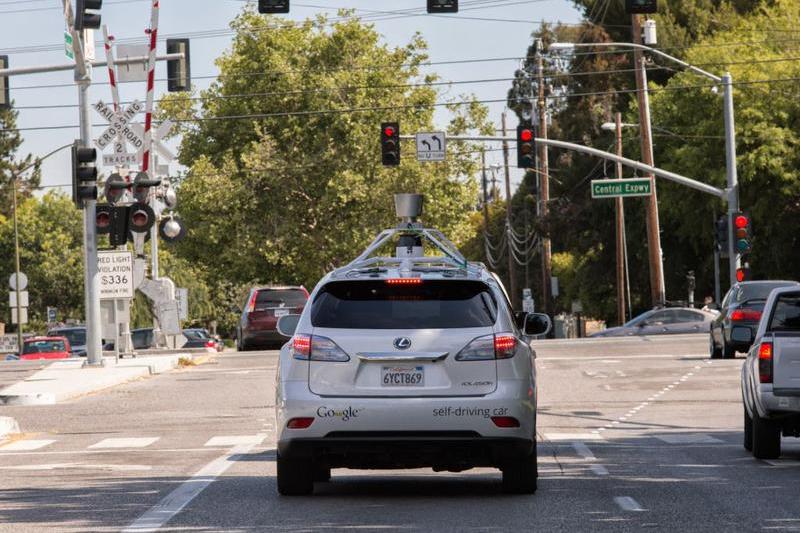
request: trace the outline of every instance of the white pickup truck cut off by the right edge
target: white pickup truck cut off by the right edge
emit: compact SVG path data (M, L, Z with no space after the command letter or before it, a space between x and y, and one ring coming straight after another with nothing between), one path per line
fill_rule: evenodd
M742 367L744 447L781 455L781 436L800 437L800 288L773 290Z

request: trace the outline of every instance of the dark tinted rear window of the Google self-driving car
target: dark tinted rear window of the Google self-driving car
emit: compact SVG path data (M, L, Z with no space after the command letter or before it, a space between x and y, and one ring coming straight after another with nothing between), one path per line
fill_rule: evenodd
M492 326L497 303L479 281L335 281L317 294L311 324L320 328L424 329Z

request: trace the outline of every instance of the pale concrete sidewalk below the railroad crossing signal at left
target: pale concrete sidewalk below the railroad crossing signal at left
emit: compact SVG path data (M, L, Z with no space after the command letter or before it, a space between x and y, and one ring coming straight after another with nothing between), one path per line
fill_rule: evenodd
M0 405L52 405L122 383L168 372L181 358L202 364L205 353L176 353L134 359L104 358L104 366L83 368L84 359L55 361L11 386L0 389Z

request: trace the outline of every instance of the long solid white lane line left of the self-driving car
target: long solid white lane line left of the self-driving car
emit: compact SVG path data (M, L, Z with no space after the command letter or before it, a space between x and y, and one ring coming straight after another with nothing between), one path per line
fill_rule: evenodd
M266 435L260 435L264 440ZM228 450L224 455L217 457L206 466L197 471L195 475L183 482L178 488L167 494L164 499L155 504L146 513L137 518L122 533L157 531L161 526L181 512L189 502L195 499L214 480L225 473L233 465L239 455L249 453L257 444L239 444Z

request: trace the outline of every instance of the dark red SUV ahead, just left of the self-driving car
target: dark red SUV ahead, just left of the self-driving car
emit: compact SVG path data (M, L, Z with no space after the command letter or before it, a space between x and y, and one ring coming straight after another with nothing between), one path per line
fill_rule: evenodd
M302 286L250 289L236 326L236 348L246 351L283 345L286 338L276 329L278 319L302 313L307 301L308 291Z

